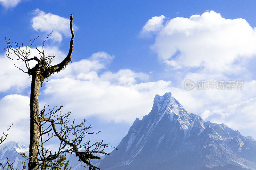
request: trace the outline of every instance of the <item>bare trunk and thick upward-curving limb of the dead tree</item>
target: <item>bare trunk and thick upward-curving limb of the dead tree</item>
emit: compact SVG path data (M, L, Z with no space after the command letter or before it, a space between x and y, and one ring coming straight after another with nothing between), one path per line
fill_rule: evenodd
M31 81L31 92L30 92L30 143L29 143L29 159L28 159L28 170L38 170L38 145L39 145L39 135L40 135L40 125L38 121L38 113L39 113L39 104L38 104L38 96L39 96L39 87L44 82L45 78L48 78L54 72L59 72L64 69L66 65L71 61L71 55L73 52L73 43L75 34L72 28L73 24L73 15L70 16L70 31L71 31L71 40L69 46L69 52L67 57L59 64L55 66L51 66L46 70L42 66L41 60L39 61L37 58L32 58L28 60L38 60L36 66L28 72L32 76ZM41 59L45 59L42 58ZM26 61L28 61L26 60ZM45 60L44 60L45 62ZM43 62L43 63L44 63ZM45 65L46 64L46 65ZM47 62L43 64L47 66Z

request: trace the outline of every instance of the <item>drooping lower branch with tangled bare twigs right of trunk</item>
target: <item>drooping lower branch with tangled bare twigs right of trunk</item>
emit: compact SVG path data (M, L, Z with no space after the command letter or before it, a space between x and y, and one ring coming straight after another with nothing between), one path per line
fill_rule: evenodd
M65 153L75 153L78 157L78 161L83 161L89 169L100 169L97 166L92 165L92 159L100 159L100 157L95 156L95 153L101 153L109 155L109 153L104 152L106 147L109 147L107 144L103 144L103 141L96 142L91 144L90 141L83 143L84 137L90 134L98 134L99 132L89 132L88 130L92 128L91 125L86 126L84 119L83 122L75 125L75 120L70 122L68 116L70 112L62 115L61 107L54 107L50 109L48 105L48 112L45 114L44 109L40 112L38 117L39 124L39 144L37 146L38 154L38 167L44 169L44 165L51 162L54 159L57 159L60 155ZM47 144L52 138L59 138L59 147L56 151L52 151L44 145ZM114 147L111 147L114 148ZM27 160L29 158L22 153L23 157Z

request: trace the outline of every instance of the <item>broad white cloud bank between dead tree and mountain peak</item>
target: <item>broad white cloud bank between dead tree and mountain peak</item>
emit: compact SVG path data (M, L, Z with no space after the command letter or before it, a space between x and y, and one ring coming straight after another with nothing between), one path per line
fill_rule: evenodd
M63 110L72 111L75 117L94 115L107 121L132 122L150 111L155 94L171 90L170 81L148 82L147 74L129 69L100 73L113 58L98 52L68 64L46 84L41 102L63 105Z

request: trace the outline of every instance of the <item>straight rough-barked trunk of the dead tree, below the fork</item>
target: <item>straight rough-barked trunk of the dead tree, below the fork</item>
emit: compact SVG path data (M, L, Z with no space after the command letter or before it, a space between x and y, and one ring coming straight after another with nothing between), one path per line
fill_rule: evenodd
M39 124L38 124L38 95L41 82L37 71L32 74L31 93L30 93L30 143L28 170L37 170L38 144L39 144Z

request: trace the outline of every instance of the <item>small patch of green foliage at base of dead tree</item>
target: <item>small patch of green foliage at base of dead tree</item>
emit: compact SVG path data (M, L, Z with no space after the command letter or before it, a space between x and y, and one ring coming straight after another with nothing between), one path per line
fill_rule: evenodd
M44 162L40 165L40 170L71 170L68 167L69 161L66 161L66 154L61 155L54 162Z

